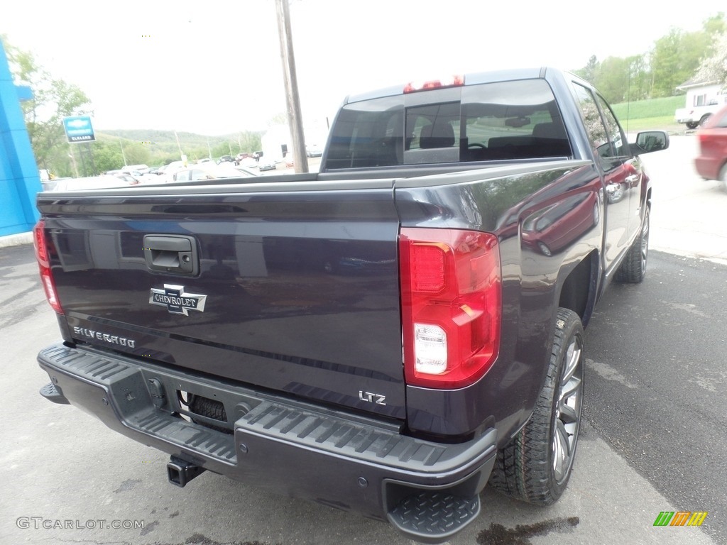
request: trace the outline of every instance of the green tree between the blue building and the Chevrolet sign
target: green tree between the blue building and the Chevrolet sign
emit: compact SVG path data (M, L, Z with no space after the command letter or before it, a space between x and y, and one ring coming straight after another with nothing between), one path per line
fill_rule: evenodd
M78 86L54 78L31 52L12 46L5 36L1 38L15 80L33 89L33 100L23 102L21 107L36 163L51 171L67 169L69 152L63 118L91 113L89 97Z

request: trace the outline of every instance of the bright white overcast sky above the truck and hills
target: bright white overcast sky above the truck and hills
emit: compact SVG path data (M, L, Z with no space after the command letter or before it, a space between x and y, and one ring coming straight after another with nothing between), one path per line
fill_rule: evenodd
M724 0L292 0L306 125L347 94L440 74L639 55L696 31ZM2 9L0 33L92 100L96 129L229 134L286 109L273 0L41 0Z

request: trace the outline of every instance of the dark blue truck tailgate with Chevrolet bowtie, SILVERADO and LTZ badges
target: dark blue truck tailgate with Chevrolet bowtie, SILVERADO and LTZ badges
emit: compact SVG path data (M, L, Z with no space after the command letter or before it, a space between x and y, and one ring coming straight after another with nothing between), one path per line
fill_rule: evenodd
M392 186L41 193L73 341L403 419Z

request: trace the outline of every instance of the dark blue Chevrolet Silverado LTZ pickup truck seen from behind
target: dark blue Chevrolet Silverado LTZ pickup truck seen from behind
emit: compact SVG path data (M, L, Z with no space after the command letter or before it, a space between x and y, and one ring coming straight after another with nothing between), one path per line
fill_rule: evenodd
M587 325L651 184L553 68L348 97L312 174L40 193L41 395L204 471L445 541L571 474Z

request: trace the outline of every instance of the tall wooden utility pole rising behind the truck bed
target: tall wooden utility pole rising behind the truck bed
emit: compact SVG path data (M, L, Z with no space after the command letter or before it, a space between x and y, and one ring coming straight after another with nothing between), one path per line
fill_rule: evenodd
M293 144L293 163L296 172L308 172L308 156L305 155L302 114L298 98L298 81L295 75L293 55L293 36L290 30L290 11L288 0L276 0L278 14L278 34L280 36L280 56L283 61L285 100L288 105L288 124Z

